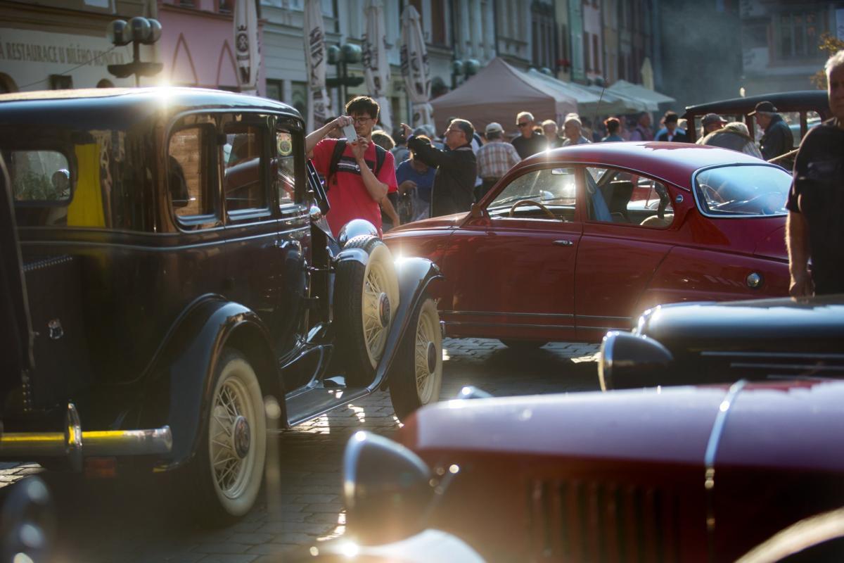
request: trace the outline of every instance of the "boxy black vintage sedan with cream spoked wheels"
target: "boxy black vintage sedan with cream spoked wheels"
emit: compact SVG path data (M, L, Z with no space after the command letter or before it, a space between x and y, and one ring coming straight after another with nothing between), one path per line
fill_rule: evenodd
M256 499L268 424L387 387L399 418L436 401L436 266L394 261L365 221L335 241L304 146L297 111L252 96L0 96L4 340L23 350L3 357L0 459L164 473L225 521Z

